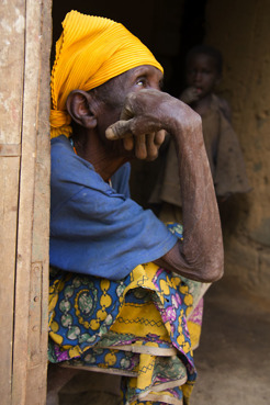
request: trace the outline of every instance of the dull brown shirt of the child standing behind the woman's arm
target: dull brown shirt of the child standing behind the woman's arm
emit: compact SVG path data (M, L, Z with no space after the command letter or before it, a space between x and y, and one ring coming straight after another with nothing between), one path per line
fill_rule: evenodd
M250 190L240 145L225 113L222 100L213 94L210 109L201 116L215 192L221 198ZM181 206L178 159L173 142L170 142L161 166L149 202L167 202Z

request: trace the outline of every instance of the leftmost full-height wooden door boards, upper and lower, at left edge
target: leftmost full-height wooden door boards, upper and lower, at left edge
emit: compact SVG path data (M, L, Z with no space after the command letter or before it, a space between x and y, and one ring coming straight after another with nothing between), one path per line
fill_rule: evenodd
M1 403L11 404L13 304L15 282L15 248L21 115L24 67L24 19L18 14L18 0L0 2L0 262L1 262Z

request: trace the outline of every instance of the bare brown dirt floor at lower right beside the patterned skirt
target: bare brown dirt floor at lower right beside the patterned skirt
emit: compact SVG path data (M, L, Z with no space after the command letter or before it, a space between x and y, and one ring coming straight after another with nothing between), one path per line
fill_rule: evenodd
M270 404L270 302L224 280L205 296L191 405Z

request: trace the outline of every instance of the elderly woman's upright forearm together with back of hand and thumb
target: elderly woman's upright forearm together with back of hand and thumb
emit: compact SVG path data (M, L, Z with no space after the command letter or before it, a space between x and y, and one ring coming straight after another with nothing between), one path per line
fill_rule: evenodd
M116 139L166 130L178 154L183 210L183 241L156 262L187 278L212 282L223 274L223 243L218 209L202 136L201 117L187 104L157 90L127 97L128 121L110 126Z

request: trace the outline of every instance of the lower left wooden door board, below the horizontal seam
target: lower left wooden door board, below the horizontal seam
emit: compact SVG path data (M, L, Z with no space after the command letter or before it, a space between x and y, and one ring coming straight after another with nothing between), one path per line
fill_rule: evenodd
M19 168L20 158L18 157L0 159L1 404L11 404Z

